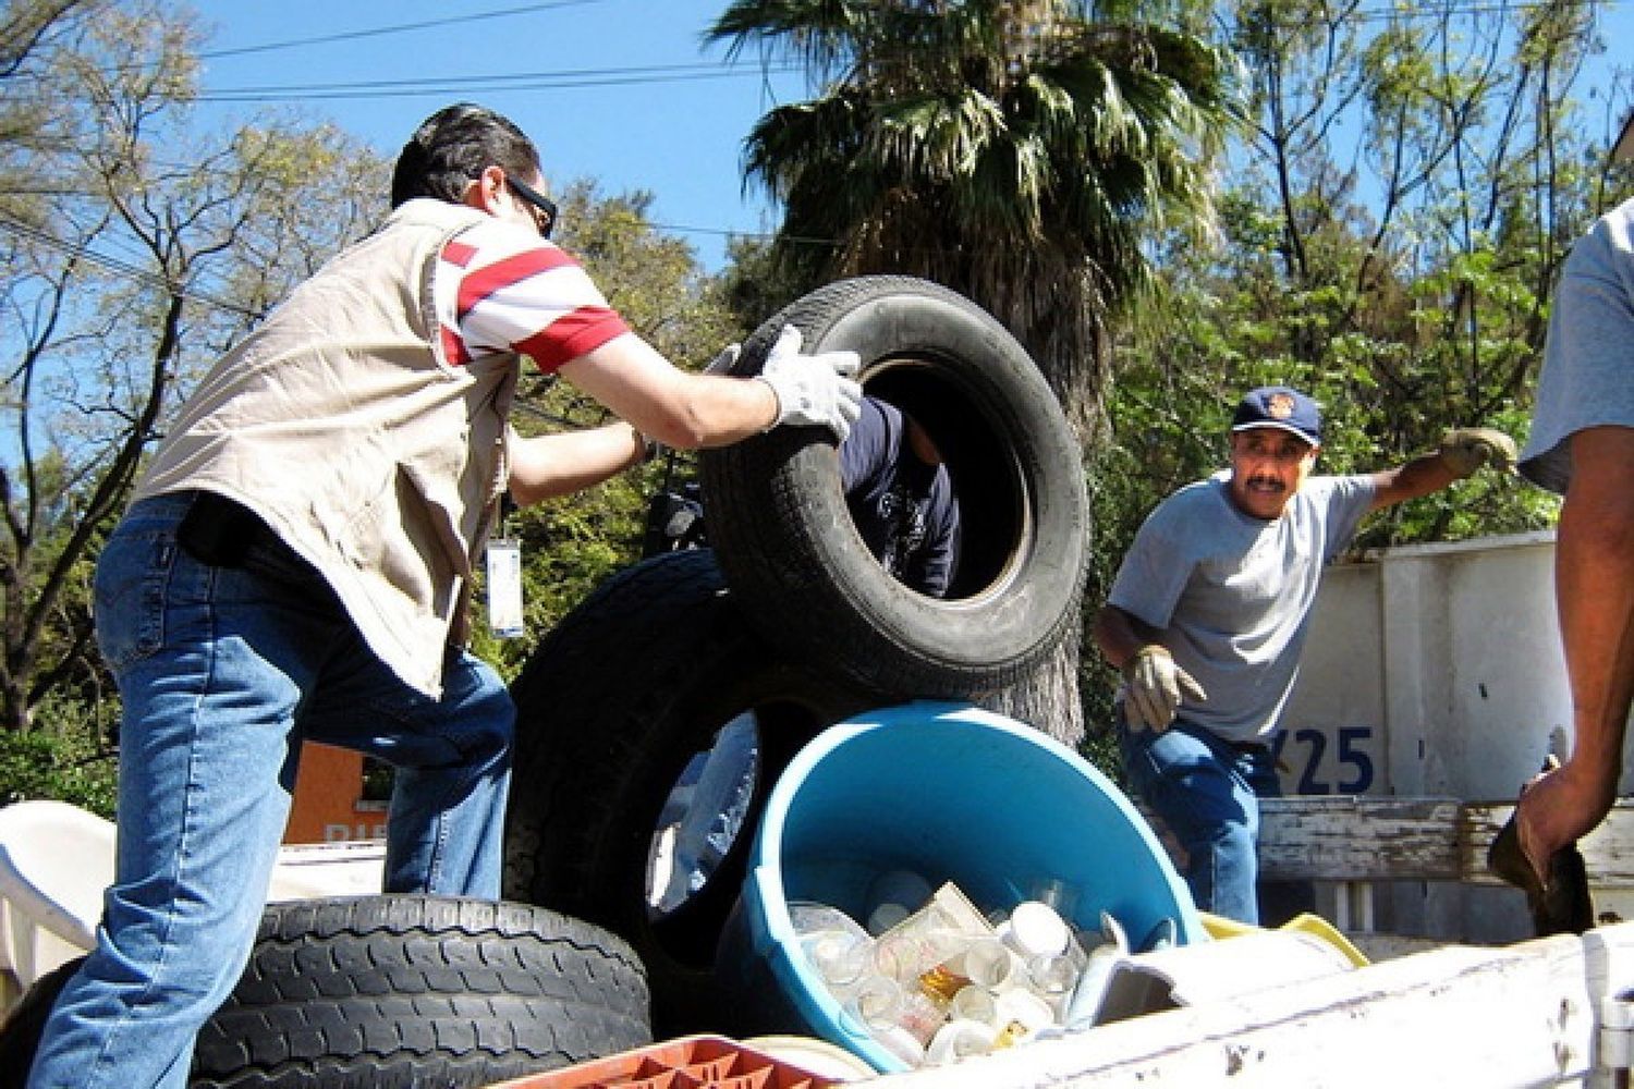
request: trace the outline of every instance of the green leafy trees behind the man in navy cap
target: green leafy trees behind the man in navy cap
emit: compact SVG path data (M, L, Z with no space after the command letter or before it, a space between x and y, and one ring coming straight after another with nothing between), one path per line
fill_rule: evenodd
M1525 438L1559 263L1631 181L1606 168L1627 90L1593 113L1577 98L1595 11L1229 8L1253 129L1221 245L1167 245L1155 304L1123 330L1092 593L1152 504L1226 462L1250 385L1325 403L1328 472L1405 460L1456 424ZM1358 547L1536 529L1552 511L1482 473L1369 519ZM1087 699L1105 705L1113 682Z

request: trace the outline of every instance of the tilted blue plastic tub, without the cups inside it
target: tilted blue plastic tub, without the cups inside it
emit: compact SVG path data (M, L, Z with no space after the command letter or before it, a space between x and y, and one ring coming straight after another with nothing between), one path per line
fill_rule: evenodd
M967 704L917 702L830 727L784 771L755 836L717 971L768 1030L822 1037L876 1069L904 1065L842 1016L810 970L791 901L866 918L869 885L910 869L1008 911L1036 882L1074 895L1072 921L1109 911L1132 940L1173 919L1208 940L1185 882L1129 800L1039 730Z

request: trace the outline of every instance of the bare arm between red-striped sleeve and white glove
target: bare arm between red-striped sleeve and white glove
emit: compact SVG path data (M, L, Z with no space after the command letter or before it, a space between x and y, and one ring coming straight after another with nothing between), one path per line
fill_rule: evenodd
M778 418L765 382L688 374L634 333L562 367L562 377L665 446L694 451L758 434Z

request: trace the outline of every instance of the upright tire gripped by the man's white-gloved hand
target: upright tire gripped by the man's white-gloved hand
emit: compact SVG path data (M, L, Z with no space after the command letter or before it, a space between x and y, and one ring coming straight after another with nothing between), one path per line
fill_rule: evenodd
M944 599L892 580L856 534L824 428L775 428L701 459L709 542L739 607L796 661L892 696L971 699L1025 678L1078 620L1088 498L1072 428L1021 344L982 309L904 276L846 279L743 343L757 374L778 331L861 356L866 392L941 451L962 516Z

